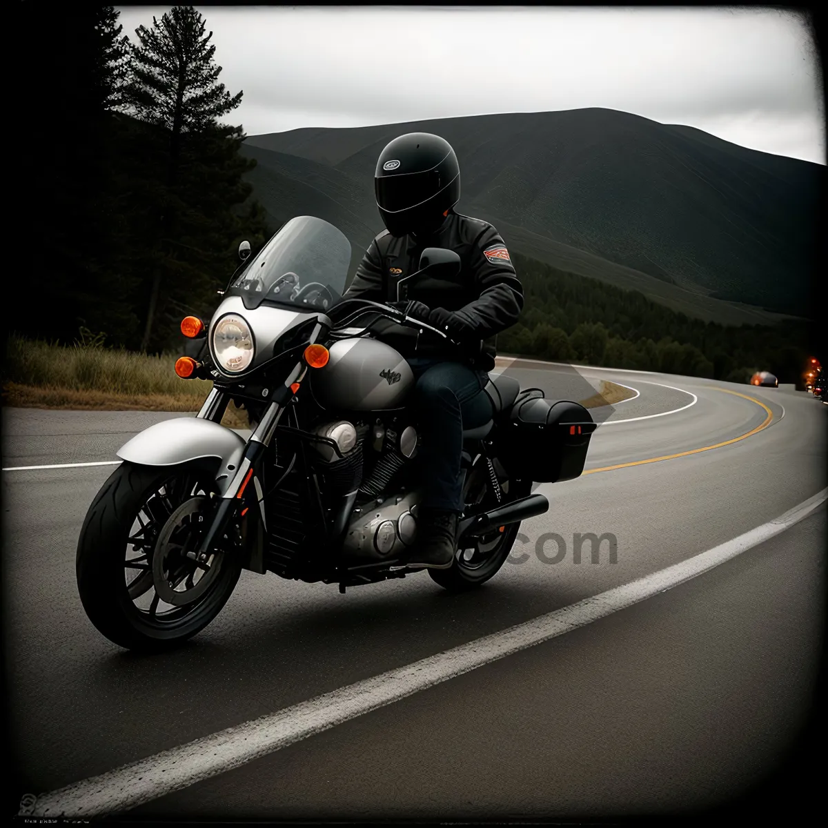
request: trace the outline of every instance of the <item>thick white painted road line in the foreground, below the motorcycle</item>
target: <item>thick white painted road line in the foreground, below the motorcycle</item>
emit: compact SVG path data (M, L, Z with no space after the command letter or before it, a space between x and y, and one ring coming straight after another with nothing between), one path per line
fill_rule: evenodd
M33 816L103 816L238 768L455 676L520 652L652 598L784 532L828 498L828 488L739 537L686 561L537 619L389 670L285 710L195 739L177 748L38 797Z

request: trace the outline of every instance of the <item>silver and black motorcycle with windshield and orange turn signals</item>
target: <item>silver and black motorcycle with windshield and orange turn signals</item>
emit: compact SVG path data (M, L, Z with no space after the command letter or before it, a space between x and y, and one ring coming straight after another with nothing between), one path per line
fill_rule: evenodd
M379 331L448 337L397 303L342 296L350 243L321 219L291 219L255 257L247 242L239 255L211 320L181 323L195 356L178 359L176 373L213 382L200 411L118 450L123 462L80 532L81 602L121 647L163 650L200 632L242 570L341 593L422 571L406 566L419 499L415 380ZM397 299L459 272L456 253L427 248ZM492 414L463 433L455 560L428 570L452 591L495 575L521 522L549 508L533 484L578 477L595 431L578 403L512 377L490 377L481 393ZM221 425L231 400L248 411L246 440Z

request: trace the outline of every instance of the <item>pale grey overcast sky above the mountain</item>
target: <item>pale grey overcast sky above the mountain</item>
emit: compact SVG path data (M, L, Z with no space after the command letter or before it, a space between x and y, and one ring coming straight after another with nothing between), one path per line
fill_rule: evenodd
M135 40L170 7L128 7ZM248 135L606 107L826 163L818 58L745 8L198 7Z

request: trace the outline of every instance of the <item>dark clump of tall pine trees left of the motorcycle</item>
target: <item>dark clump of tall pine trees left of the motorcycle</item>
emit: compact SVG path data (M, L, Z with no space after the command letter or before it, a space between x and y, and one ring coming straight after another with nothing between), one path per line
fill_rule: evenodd
M14 11L21 31L41 30L42 7ZM244 181L255 161L239 152L243 132L219 121L241 93L218 83L192 7L175 7L163 26L148 14L137 45L113 7L53 11L39 71L21 78L31 133L21 209L38 306L14 329L157 351L178 341L183 315L209 315L241 239L268 235Z

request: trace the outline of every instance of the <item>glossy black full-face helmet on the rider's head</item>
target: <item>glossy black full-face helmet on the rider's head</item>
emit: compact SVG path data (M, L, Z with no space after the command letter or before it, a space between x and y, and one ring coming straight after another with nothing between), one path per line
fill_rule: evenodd
M445 138L409 132L379 154L373 184L392 236L429 233L460 200L460 165Z

